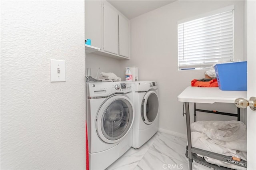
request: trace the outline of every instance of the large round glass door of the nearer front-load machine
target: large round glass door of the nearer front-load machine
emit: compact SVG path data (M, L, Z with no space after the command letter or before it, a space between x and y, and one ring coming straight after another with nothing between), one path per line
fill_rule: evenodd
M116 143L130 131L134 120L132 101L126 95L113 95L101 105L96 118L96 131L101 140Z

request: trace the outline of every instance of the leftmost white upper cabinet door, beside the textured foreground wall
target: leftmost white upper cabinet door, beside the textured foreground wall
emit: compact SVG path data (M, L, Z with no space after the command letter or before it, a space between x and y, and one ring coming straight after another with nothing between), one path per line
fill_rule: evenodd
M85 1L85 39L102 49L102 1Z

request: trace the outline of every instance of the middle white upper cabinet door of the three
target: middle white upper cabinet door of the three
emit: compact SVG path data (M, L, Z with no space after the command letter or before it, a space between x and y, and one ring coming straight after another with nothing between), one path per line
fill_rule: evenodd
M104 51L118 54L118 13L104 3Z

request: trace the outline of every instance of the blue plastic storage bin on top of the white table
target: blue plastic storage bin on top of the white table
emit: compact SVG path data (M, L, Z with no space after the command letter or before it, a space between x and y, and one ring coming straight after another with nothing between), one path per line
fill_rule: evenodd
M214 69L219 89L247 90L247 61L216 64Z

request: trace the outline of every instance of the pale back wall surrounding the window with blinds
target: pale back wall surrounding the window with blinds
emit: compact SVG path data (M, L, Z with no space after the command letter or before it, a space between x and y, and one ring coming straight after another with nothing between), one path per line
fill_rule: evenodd
M120 68L137 66L140 80L158 81L159 128L186 134L182 103L177 101L177 96L190 85L192 79L204 78L205 70L178 71L177 22L232 4L235 5L234 59L243 60L243 1L176 1L130 21L131 59L121 61ZM236 111L233 105L228 107ZM226 106L221 108L226 109Z

